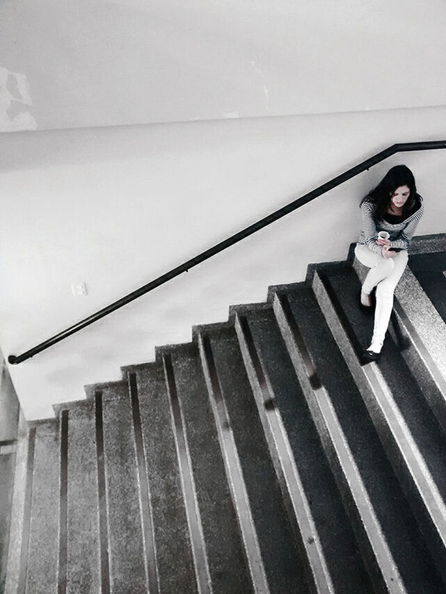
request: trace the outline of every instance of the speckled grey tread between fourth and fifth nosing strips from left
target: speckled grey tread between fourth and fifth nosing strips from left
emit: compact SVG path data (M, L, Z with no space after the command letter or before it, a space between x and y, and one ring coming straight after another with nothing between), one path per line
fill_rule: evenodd
M156 576L150 581L161 594L195 594L196 573L164 369L152 363L135 374L141 422L136 430L141 433L150 501L143 517L152 530L152 543L146 539L146 547L152 546L156 559Z

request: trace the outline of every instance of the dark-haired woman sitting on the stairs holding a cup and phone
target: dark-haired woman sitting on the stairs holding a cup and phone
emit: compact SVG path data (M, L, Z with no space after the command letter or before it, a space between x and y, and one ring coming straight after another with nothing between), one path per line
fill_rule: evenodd
M370 268L359 296L360 307L365 312L373 312L372 291L376 287L372 342L364 353L368 361L381 358L395 287L406 268L409 242L423 216L422 200L411 170L397 165L360 203L363 230L355 255ZM386 233L381 233L381 237L379 232Z

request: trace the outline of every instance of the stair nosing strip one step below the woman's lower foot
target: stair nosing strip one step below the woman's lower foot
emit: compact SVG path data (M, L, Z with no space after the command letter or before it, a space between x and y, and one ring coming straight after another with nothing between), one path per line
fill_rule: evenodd
M283 303L284 301L286 301L287 303L285 307ZM289 330L289 335L293 342L294 351L297 357L301 359L299 364L301 368L304 370L307 385L302 385L301 378L299 376L298 380L304 389L304 394L307 394L311 391L316 396L314 398L314 403L317 405L317 408L319 408L322 420L324 422L324 426L326 427L328 434L330 435L330 442L333 444L333 450L335 451L337 460L340 466L342 467L342 473L344 474L347 484L349 485L349 490L355 501L355 506L358 510L361 520L363 521L363 527L367 533L367 538L369 540L370 546L372 547L372 550L376 556L379 571L381 572L381 575L385 581L386 586L388 587L389 592L405 593L406 588L404 587L404 583L401 579L401 575L397 568L397 564L393 559L392 553L390 552L390 549L385 541L383 532L381 531L381 525L374 513L372 502L369 499L367 489L365 488L365 485L363 483L363 479L361 479L360 472L349 448L347 438L345 437L344 432L342 431L339 419L337 418L333 405L330 402L330 396L326 388L324 388L324 386L322 386L320 382L319 387L314 387L314 385L312 385L312 383L314 383L314 380L312 382L311 378L313 378L316 374L314 364L312 362L311 355L305 346L305 342L301 337L300 331L298 330L297 324L292 323L292 321L290 320L289 316L292 316L292 312L289 308L289 302L286 296L277 296L275 300L274 311L277 312L279 307L281 310L280 313L285 318L285 321L287 323L287 329ZM288 308L289 312L287 312ZM279 317L280 313L276 315L278 315ZM296 356L294 355L294 353L292 353L292 350L289 348L289 339L287 337L286 332L282 329L282 325L280 323L279 327L284 342L287 345L287 349L292 359L293 366L296 369L296 375L298 375L298 371L296 368ZM304 353L304 356L302 356L302 353ZM325 405L324 407L321 406L323 403ZM313 408L313 406L310 406L310 410L312 410ZM352 481L353 477L355 479L354 483ZM369 516L369 520L367 522L364 519L365 510L368 512ZM370 522L372 522L372 524ZM385 563L380 563L379 559L381 559Z

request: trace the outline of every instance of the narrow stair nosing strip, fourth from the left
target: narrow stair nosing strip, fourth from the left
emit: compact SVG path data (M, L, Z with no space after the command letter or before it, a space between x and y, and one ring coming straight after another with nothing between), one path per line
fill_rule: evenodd
M143 523L147 586L150 594L159 594L160 584L157 567L157 545L154 538L152 497L150 494L150 484L148 480L144 453L144 438L141 428L141 411L139 408L139 396L136 373L129 373L128 380L130 399L132 402L136 461L139 483L138 499L141 512L141 520Z

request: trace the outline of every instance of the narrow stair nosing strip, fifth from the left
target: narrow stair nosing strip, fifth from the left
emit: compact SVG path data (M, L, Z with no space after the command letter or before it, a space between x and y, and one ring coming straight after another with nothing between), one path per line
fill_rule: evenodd
M170 353L163 353L162 360L170 406L170 419L173 426L173 435L175 436L177 460L180 465L184 506L186 509L187 523L189 525L189 534L191 536L193 564L196 570L198 591L200 594L211 594L212 586L209 566L207 564L205 536L202 531L200 508L198 506L198 497L196 494L195 482L193 480L191 456L187 444L184 419L182 418Z

